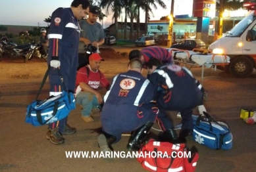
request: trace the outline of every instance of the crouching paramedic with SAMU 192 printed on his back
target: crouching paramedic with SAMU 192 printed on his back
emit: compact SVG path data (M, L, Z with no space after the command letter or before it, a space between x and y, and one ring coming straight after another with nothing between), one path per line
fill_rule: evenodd
M110 151L111 144L118 142L122 133L131 131L134 132L127 148L139 150L155 122L158 108L151 102L153 85L141 75L141 70L140 59L134 58L128 64L128 72L113 78L101 112L103 134L98 137L101 151Z

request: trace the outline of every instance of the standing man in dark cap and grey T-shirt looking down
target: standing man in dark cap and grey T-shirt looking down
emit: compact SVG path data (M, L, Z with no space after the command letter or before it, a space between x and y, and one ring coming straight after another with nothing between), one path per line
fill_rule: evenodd
M99 7L91 6L88 18L79 22L82 32L78 49L78 70L89 64L90 55L85 53L84 47L91 44L93 46L93 53L95 53L99 46L103 45L105 41L103 28L101 24L97 22L99 14Z

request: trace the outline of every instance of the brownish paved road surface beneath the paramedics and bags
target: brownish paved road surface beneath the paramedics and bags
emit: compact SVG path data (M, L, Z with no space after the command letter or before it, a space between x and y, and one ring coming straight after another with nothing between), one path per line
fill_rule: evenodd
M195 77L201 77L201 68L192 68L192 72ZM207 111L228 123L234 140L233 148L227 151L211 150L188 141L189 147L194 145L199 151L196 171L255 171L256 127L239 117L241 108L256 109L255 79L255 73L239 79L220 71L205 70L203 85L208 93ZM0 171L145 171L135 158L66 158L66 151L99 151L97 133L90 131L100 127L99 114L94 111L95 121L84 123L79 108L74 110L68 123L78 129L77 133L66 136L65 144L55 146L45 139L46 126L32 127L24 122L26 106L36 97L39 84L36 80L6 83L0 87ZM47 85L41 98L47 97ZM175 116L176 112L170 112L174 123L179 123ZM152 133L157 132L152 130ZM127 142L128 137L123 137L113 147L116 151L126 151Z

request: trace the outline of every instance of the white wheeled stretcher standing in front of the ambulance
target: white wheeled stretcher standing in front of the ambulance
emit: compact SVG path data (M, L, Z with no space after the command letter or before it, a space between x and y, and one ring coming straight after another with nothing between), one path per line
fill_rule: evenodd
M208 50L193 49L193 51L187 51L182 49L166 48L173 56L174 62L183 63L192 66L202 66L201 72L201 84L203 85L203 71L204 66L210 68L217 65L228 65L230 57L225 54L213 54ZM199 52L198 52L199 51Z

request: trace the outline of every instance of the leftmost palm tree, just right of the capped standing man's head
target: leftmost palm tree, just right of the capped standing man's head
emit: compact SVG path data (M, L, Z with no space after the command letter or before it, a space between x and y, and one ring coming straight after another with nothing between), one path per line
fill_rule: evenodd
M121 0L101 0L100 6L103 9L107 9L107 15L109 14L109 10L111 12L114 12L113 18L115 21L115 32L117 32L118 30L117 19L122 12L122 1Z

